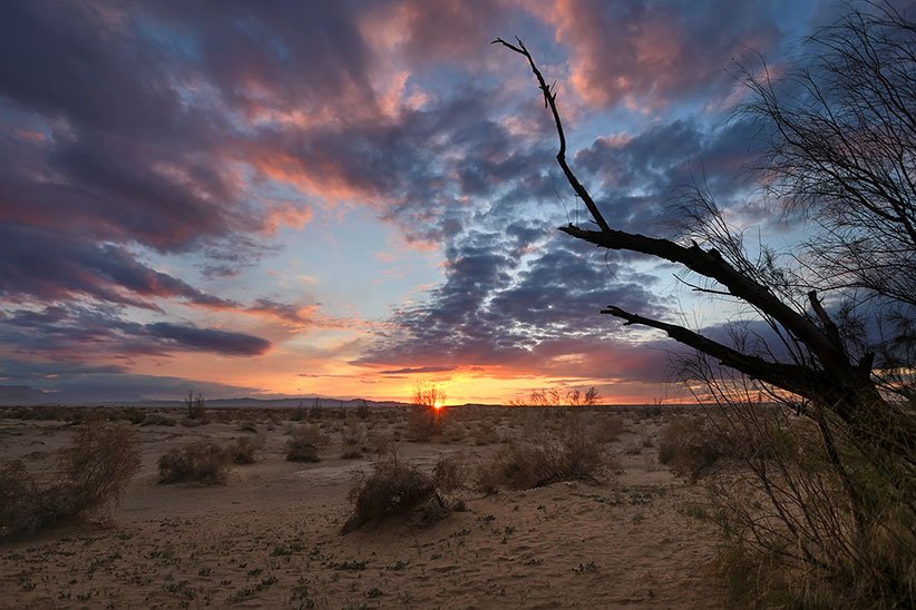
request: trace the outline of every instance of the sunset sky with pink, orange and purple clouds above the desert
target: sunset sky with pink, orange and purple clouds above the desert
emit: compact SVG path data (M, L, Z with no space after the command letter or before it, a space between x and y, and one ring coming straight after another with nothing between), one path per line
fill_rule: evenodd
M680 400L675 345L740 312L671 266L559 233L670 236L702 183L788 239L757 188L741 71L778 77L842 4L747 0L0 3L0 384L86 401ZM64 394L61 394L64 395Z

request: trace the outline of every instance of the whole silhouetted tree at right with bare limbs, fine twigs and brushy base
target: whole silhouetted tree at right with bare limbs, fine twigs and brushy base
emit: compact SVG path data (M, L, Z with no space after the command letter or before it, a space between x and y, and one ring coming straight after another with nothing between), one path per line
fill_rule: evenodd
M699 188L680 203L690 224L679 238L614 228L566 160L556 94L530 52L519 39L494 42L527 59L554 119L557 163L595 225L561 230L600 248L674 263L698 277L691 284L696 291L749 306L769 326L769 340L735 332L729 344L615 305L602 311L695 350L698 358L683 368L688 381L704 384L704 396L729 407L735 427L769 439L769 453L757 452L748 463L772 510L757 519L746 500L743 533L767 539L769 550L835 581L849 578L844 570L852 565L851 573L868 574L869 594L912 603L914 538L906 524L916 522L914 22L889 4L867 4L808 40L815 49L808 68L780 81L766 71L744 72L753 100L743 110L772 134L761 159L770 194L811 232L791 253L795 268L767 247L751 259L741 233ZM819 437L828 478L806 475L803 468L789 472L798 460L773 450L772 441L793 421L761 416L759 405L748 404L760 392L777 403L773 410L790 405L790 415L811 422L796 426L808 441L792 446L810 452L810 436ZM831 482L841 490L839 500L825 491ZM793 484L803 489L785 489ZM817 515L815 499L826 506ZM818 519L830 527L811 522ZM884 549L869 542L876 537L887 542Z

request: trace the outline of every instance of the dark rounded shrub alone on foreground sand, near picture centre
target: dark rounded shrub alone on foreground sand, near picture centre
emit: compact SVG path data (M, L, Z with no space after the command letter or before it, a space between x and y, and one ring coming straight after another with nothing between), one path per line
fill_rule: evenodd
M432 478L401 462L392 453L376 462L372 474L357 478L350 489L353 515L343 524L342 532L357 530L366 523L406 513L435 500Z

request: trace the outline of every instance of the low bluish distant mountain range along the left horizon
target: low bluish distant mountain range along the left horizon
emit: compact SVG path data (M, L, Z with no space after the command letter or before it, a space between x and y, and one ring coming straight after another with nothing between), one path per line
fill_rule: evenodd
M214 399L207 400L207 406L312 406L315 399L323 407L343 406L355 407L363 403L362 399L332 399L327 396L303 396L294 399ZM369 406L403 406L407 403L397 401L370 401L366 400ZM136 399L128 401L92 401L86 400L77 393L67 392L45 392L29 387L28 385L0 385L0 406L35 406L49 404L67 405L121 405L121 406L182 406L183 401L154 401L147 399Z

